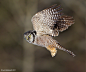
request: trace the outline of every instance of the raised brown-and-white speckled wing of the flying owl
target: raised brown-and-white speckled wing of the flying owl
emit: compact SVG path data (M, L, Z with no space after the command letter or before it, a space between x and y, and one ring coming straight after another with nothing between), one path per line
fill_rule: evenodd
M60 8L60 5L57 6L55 4L36 13L31 20L34 29L37 32L42 31L42 28L44 28L44 31L46 29L51 29L53 31L57 30L57 32L66 30L69 26L74 24L74 20L71 16L63 15L61 11L62 8Z

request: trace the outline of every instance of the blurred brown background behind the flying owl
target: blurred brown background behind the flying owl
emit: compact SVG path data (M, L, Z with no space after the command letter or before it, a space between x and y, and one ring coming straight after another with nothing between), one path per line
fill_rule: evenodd
M52 58L48 50L23 38L24 32L33 30L31 17L53 4L61 5L62 12L75 19L75 24L54 38L73 51L74 58L60 50ZM86 72L85 16L86 0L0 0L0 69Z

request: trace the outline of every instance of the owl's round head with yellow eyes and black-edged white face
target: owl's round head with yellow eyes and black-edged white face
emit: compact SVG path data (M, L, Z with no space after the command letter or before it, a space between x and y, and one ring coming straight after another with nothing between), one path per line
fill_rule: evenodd
M24 38L27 42L32 43L35 40L36 31L27 31L24 33Z

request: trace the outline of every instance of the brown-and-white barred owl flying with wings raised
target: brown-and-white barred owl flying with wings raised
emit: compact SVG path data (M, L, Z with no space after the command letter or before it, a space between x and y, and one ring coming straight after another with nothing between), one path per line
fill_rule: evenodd
M63 50L74 57L73 52L65 49L52 38L74 24L73 17L63 15L61 11L60 5L55 4L36 13L31 19L34 30L25 32L24 38L29 43L45 47L51 52L52 57L56 55L57 49Z

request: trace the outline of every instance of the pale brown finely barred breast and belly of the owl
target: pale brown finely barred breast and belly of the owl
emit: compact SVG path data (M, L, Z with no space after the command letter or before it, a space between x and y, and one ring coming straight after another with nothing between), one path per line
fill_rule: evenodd
M47 47L49 45L54 45L56 40L54 40L51 36L43 35L43 36L36 36L34 44L42 47Z

